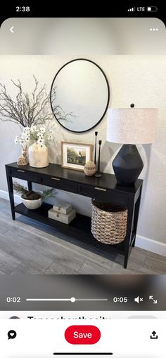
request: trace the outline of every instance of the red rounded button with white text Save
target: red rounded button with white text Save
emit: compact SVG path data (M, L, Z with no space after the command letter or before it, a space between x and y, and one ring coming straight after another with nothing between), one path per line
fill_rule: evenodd
M96 326L70 326L65 330L65 339L72 345L94 345L100 338Z

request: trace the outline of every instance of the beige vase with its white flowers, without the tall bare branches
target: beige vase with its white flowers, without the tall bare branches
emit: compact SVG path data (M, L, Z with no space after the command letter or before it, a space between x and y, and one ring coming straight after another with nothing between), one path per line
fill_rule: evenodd
M15 138L23 148L28 148L29 165L34 168L44 168L49 165L47 144L53 139L53 130L45 126L31 126L23 129L22 135ZM19 159L18 159L19 164ZM23 165L20 163L20 165Z

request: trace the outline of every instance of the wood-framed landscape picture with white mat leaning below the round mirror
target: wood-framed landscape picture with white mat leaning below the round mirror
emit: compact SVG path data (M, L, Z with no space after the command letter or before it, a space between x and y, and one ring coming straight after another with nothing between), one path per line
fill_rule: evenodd
M91 161L92 145L72 142L61 142L63 168L84 171L84 165Z

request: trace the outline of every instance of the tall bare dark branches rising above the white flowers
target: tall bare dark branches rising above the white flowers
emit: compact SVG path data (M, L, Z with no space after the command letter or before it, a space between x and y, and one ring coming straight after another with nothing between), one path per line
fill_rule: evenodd
M51 111L50 95L46 93L46 85L39 88L39 81L34 77L34 90L31 94L23 91L23 86L18 79L18 83L11 80L18 89L15 99L7 93L6 86L0 83L0 119L20 124L23 127L44 124L54 118L54 114L63 121L68 121L72 113L65 114L60 105L53 107ZM52 100L56 98L56 88L52 92Z

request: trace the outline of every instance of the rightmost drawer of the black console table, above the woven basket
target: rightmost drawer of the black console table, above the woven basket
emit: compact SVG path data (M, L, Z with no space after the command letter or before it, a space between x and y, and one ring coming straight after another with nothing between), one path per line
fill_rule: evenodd
M115 192L115 190L105 189L103 187L92 187L89 185L79 185L78 194L87 197L110 201L114 204L127 205L128 196L125 193Z

